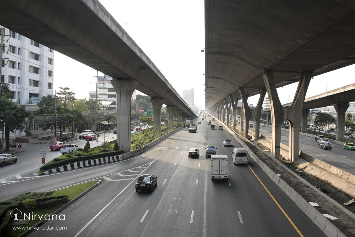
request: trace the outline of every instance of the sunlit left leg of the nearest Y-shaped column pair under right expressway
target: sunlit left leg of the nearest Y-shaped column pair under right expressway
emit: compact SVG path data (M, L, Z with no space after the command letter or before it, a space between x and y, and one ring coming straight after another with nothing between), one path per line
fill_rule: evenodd
M270 110L272 119L271 133L271 155L275 158L280 157L280 142L281 142L281 124L283 121L283 107L279 100L274 81L274 75L271 70L262 70L263 79L266 90L270 99Z

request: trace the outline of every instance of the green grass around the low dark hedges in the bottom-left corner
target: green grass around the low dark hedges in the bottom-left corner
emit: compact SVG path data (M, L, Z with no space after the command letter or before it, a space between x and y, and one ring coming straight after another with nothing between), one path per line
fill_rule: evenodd
M77 197L78 195L83 193L88 188L92 187L97 182L98 182L98 180L94 180L94 181L89 181L87 183L78 184L78 185L75 185L75 186L72 186L72 187L56 190L52 195L53 196L55 196L55 195L66 195L66 196L69 196L68 200L72 200L73 198ZM54 206L54 207L46 208L46 209L32 209L31 212L33 212L33 214L38 214L38 215L43 215L43 216L47 215L47 214L50 215L54 211L58 210L61 206L62 205ZM27 211L28 210L26 210L26 212ZM39 220L31 220L27 225L17 225L17 226L31 227L31 226L35 225L36 223L38 223L38 222L39 222ZM23 233L24 231L26 231L26 230L13 230L12 227L13 226L11 226L11 225L9 225L7 227L7 230L6 230L6 233L5 233L4 237L16 237L16 236L20 235L21 233Z

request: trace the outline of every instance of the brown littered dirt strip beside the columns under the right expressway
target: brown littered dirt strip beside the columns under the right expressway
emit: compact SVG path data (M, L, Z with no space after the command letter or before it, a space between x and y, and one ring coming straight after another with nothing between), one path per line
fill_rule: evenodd
M251 144L247 139L239 136L245 144L252 150L255 150L255 146ZM271 168L275 173L281 174L281 178L288 183L293 189L297 191L300 195L302 195L307 201L315 202L320 205L319 207L315 207L322 214L329 214L338 218L338 220L330 220L340 231L344 233L344 235L348 237L355 237L355 220L347 215L343 210L339 209L337 206L326 198L320 196L315 190L309 187L304 182L297 179L294 174L291 174L287 169L280 166L270 155L270 151L267 147L262 147L258 145L261 149L256 149L256 155L260 158L269 168ZM265 150L265 151L263 151ZM355 214L355 203L352 205L344 205L345 202L353 199L353 197L348 194L334 188L329 183L324 182L323 180L318 179L317 177L311 176L304 172L297 172L297 168L294 167L291 163L287 163L285 161L280 160L280 162L284 163L289 169L295 172L298 176L302 177L309 183L311 183L314 187L321 190L324 194L337 201L340 205L344 206L350 212Z

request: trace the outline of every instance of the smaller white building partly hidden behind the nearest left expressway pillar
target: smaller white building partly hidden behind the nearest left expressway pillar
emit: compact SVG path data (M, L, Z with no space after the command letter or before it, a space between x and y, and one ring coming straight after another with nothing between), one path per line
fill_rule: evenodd
M101 109L116 109L117 94L111 84L112 77L108 75L99 76L97 85L97 99L101 101ZM132 101L137 97L137 91L132 94ZM96 91L89 91L89 98L95 98Z

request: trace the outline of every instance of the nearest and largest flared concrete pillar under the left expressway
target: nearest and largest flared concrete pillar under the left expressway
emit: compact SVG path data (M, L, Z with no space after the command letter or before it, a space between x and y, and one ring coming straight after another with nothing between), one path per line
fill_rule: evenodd
M138 82L136 80L113 79L111 84L117 94L116 141L121 150L131 151L131 98Z

